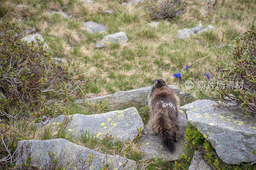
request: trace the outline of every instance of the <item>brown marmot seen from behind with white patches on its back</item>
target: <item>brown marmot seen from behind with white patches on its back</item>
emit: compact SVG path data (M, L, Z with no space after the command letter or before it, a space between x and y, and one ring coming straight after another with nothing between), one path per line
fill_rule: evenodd
M148 96L150 107L149 126L152 131L162 138L162 142L173 152L178 130L179 98L164 82L163 79L153 81L151 93Z

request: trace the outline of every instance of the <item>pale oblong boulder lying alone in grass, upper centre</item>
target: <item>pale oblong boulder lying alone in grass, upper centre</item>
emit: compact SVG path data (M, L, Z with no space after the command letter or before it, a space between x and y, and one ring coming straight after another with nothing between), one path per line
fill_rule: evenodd
M124 44L128 41L127 35L125 32L121 31L118 33L106 35L100 40L96 45L95 48L106 48L111 44Z

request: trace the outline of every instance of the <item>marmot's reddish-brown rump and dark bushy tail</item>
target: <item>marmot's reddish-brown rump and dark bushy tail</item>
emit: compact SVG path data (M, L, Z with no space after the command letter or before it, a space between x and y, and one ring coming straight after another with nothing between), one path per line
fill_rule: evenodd
M163 144L167 146L170 152L173 152L176 142L177 123L167 114L158 113L155 116L155 122L152 124L153 131L162 138Z

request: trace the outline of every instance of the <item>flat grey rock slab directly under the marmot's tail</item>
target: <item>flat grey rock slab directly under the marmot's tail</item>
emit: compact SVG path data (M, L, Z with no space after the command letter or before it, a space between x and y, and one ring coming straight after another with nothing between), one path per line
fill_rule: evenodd
M186 114L182 110L179 111L178 122L179 131L176 137L177 143L175 144L174 152L170 152L167 147L162 145L161 138L151 132L149 125L145 126L142 131L142 136L140 137L140 142L142 144L141 148L145 153L145 159L161 158L166 159L167 161L173 161L178 160L180 154L184 154L185 150L181 142L185 142L184 135L188 120L186 119Z

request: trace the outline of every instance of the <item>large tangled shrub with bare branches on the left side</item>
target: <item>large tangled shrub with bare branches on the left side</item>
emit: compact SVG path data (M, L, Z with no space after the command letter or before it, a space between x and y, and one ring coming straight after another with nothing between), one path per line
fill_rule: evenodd
M36 45L22 42L19 31L12 30L10 25L0 27L0 89L5 94L0 99L1 115L37 121L49 118L52 115L46 103L60 104L95 79L85 78L77 64L53 60L40 41Z

